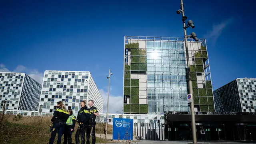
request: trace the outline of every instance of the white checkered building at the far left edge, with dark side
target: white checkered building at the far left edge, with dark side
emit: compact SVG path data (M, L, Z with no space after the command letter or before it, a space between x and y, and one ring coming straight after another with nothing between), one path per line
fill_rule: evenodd
M25 73L0 72L0 111L38 111L42 85Z

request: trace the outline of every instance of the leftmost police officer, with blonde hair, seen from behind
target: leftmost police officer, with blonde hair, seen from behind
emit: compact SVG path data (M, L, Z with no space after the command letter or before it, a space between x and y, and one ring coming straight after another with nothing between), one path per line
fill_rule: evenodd
M57 102L56 110L53 113L53 117L51 119L53 126L52 126L52 134L49 140L49 144L53 144L56 133L58 132L58 141L57 144L61 143L61 136L64 132L65 122L68 119L68 110L64 106L63 102Z

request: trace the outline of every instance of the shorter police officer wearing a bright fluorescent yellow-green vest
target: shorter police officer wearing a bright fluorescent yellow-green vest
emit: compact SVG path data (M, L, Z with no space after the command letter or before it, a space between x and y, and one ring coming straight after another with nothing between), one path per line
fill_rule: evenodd
M73 110L71 108L68 109L69 111L69 118L65 124L65 131L64 131L64 142L63 144L72 144L72 132L74 132L74 128L76 125L76 116L73 114Z

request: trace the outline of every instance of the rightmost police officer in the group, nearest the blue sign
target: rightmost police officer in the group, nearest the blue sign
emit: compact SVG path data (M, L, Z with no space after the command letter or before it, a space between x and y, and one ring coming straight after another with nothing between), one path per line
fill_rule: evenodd
M97 108L93 105L94 101L89 100L88 105L90 107L90 125L86 128L86 144L90 143L90 135L92 135L92 144L95 144L96 142L96 136L95 136L95 125L96 125L96 116L99 116Z

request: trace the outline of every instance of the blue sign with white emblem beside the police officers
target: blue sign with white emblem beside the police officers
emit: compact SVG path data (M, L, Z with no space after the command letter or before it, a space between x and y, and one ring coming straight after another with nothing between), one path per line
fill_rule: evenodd
M133 119L114 118L113 140L132 140Z

